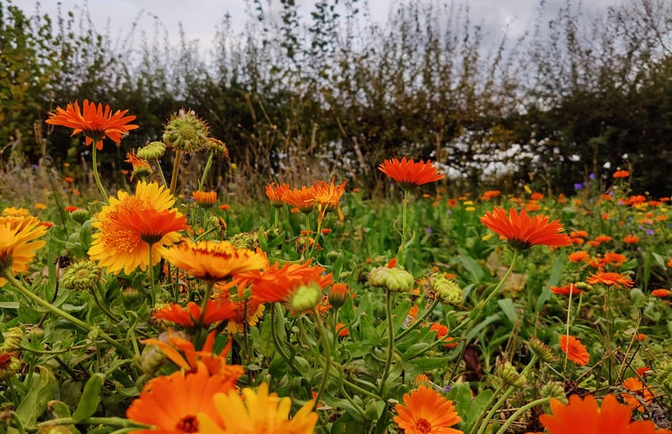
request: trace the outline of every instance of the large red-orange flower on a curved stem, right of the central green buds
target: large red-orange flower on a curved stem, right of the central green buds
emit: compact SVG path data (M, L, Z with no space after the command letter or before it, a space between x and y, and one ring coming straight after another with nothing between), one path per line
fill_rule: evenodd
M509 215L502 207L495 207L480 218L483 225L499 233L514 249L525 250L534 245L569 246L571 239L562 233L563 226L558 220L549 222L548 216L530 217L525 210L510 209Z

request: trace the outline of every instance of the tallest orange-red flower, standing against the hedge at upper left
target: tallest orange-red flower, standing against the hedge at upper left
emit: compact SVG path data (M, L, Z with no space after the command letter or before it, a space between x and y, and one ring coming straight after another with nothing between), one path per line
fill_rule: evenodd
M116 144L121 143L122 137L129 133L130 130L135 130L138 125L129 123L135 120L135 116L126 116L128 110L117 110L112 114L109 106L89 102L84 99L83 110L79 107L79 103L75 101L75 105L68 103L66 109L56 107L56 113L49 115L46 120L50 125L61 125L67 128L72 128L71 136L83 133L86 138L86 146L96 142L96 148L101 150L103 148L103 138L106 136Z

